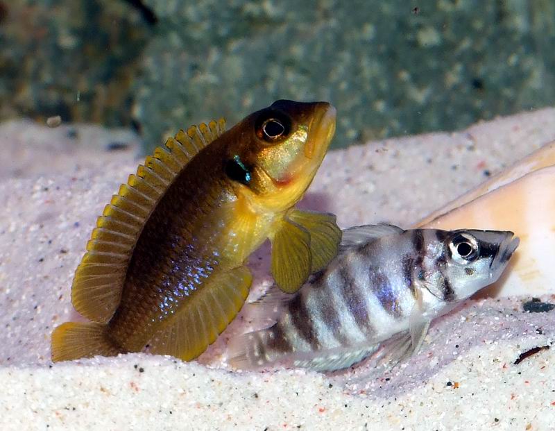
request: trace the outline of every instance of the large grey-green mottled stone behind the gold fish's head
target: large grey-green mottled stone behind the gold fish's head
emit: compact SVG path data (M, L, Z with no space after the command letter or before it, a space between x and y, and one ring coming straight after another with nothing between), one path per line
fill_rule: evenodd
M275 99L338 108L335 146L555 103L551 1L146 0L146 142Z

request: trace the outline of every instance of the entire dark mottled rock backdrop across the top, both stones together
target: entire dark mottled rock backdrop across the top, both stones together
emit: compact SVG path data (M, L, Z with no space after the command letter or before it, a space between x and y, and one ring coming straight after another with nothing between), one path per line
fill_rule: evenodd
M555 3L0 0L0 119L178 128L323 99L334 146L555 103Z

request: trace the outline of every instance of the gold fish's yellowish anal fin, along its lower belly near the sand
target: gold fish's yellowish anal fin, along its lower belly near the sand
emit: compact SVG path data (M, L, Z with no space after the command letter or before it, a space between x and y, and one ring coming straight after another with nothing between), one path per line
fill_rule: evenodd
M151 353L189 361L203 353L237 316L253 277L246 267L207 280L149 342Z

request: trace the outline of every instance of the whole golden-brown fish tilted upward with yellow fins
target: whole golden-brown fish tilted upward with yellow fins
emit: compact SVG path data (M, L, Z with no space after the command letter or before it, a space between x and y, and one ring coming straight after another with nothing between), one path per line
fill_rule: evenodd
M332 214L293 208L335 128L329 103L277 101L224 132L200 124L158 148L99 217L71 302L90 323L52 334L52 360L137 352L191 360L234 319L266 238L278 286L294 292L336 255Z

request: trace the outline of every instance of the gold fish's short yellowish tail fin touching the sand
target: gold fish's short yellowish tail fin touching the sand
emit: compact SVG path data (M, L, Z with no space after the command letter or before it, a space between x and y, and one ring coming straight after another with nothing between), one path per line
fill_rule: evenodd
M108 337L107 325L76 322L62 323L53 330L51 351L53 362L123 353Z

